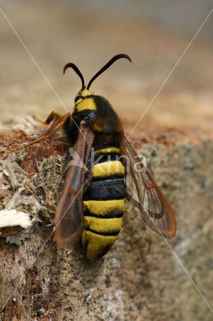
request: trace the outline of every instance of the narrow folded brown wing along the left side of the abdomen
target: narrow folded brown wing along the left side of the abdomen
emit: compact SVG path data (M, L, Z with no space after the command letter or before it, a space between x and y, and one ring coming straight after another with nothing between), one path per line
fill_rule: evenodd
M71 163L55 213L55 237L59 246L75 242L84 228L82 198L86 187L86 165L94 133L80 125L75 144L75 158Z

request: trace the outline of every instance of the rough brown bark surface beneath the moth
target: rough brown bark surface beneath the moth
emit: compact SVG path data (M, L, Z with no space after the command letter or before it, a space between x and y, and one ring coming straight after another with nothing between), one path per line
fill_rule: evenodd
M8 136L1 142L13 146L14 137ZM132 143L138 146L138 141ZM35 212L33 225L26 231L1 229L1 306L8 299L1 319L162 321L198 320L203 315L210 319L209 308L172 250L210 301L212 142L176 145L172 150L157 139L142 144L138 152L146 157L149 171L174 209L176 238L168 245L126 203L119 237L99 262L85 258L80 241L66 249L53 242L54 210L69 160L67 146L59 145L41 142L1 161L2 167L5 162L7 166L18 162L28 174L34 171L27 176L15 169L17 184L10 188L11 175L1 172L1 188L7 185L1 194L2 208L19 193L14 207Z

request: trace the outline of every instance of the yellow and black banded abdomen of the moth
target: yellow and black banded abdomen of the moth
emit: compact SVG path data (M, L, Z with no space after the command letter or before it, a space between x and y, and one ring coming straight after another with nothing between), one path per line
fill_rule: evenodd
M125 185L119 155L117 147L94 152L94 161L100 159L94 165L91 184L83 196L85 229L81 237L90 260L99 260L107 253L121 229Z

